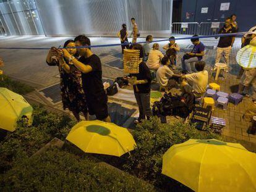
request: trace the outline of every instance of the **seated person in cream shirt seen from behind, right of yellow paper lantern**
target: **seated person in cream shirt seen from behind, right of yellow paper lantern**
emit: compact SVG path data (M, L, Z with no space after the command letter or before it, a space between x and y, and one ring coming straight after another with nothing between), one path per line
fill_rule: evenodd
M147 66L150 70L158 70L160 67L160 61L163 58L163 53L159 51L159 44L154 43L153 44L153 49L150 50L150 53L148 55L148 61L147 61Z

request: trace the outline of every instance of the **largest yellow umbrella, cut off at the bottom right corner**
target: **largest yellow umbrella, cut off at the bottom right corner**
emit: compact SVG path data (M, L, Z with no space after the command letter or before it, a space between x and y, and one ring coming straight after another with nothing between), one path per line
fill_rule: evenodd
M162 173L194 191L256 191L256 154L237 143L188 140L164 154Z

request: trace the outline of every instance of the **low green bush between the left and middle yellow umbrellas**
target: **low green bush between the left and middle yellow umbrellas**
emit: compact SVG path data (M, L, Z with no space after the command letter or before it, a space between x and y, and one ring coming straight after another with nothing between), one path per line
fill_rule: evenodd
M54 137L64 140L75 125L67 115L49 113L40 106L33 106L33 109L33 125L28 127L26 123L18 122L17 129L0 142L0 173L31 156Z

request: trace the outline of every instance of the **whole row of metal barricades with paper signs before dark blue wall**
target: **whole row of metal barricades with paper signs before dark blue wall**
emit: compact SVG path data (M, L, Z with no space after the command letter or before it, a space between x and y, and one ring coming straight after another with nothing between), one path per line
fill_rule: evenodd
M215 35L224 22L174 22L171 33L177 35Z

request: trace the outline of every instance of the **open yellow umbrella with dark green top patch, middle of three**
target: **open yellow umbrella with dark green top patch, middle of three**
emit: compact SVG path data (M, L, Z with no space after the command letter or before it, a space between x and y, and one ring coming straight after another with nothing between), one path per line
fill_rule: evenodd
M134 150L136 145L127 128L100 120L77 123L66 139L84 152L118 157Z

